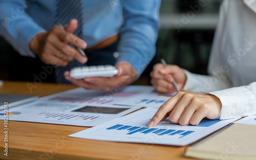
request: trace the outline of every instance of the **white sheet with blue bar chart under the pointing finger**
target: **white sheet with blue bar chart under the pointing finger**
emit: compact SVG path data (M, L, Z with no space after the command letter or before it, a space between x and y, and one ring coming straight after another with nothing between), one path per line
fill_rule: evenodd
M155 108L145 108L124 117L79 131L69 137L185 146L237 120L203 119L197 126L181 126L166 119L155 127L147 127L147 123L156 112L157 109Z

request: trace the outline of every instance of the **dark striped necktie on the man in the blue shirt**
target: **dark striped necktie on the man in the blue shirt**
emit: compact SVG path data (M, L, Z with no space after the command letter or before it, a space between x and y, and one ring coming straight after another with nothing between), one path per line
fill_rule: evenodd
M81 1L77 0L57 0L57 10L55 16L55 24L66 25L71 19L77 19L78 26L74 31L74 35L82 38L82 5ZM56 67L55 68L55 78L56 82L59 84L70 84L69 81L63 76L65 71L70 71L71 68L83 66L80 62L73 60L66 67Z

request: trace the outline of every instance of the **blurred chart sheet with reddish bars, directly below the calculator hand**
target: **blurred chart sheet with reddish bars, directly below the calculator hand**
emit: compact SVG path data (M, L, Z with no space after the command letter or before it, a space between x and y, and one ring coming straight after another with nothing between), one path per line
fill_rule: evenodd
M70 103L70 104L119 104L124 100L131 100L140 94L152 92L152 86L126 86L119 89L113 89L109 92L101 90L85 90L77 88L66 92L61 92L40 98L45 102ZM123 105L133 105L127 101Z

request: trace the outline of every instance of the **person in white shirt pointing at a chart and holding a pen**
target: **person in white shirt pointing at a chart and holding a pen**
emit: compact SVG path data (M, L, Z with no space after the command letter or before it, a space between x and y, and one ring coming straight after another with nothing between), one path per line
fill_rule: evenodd
M225 0L220 8L208 65L209 75L175 65L154 66L152 85L158 92L184 91L167 100L148 123L160 120L197 125L204 117L230 119L256 114L256 0ZM172 76L170 76L172 74Z

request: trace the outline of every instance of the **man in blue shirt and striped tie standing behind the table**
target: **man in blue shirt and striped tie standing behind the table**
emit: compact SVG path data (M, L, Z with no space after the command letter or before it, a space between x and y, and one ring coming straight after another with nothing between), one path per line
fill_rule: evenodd
M20 55L57 66L54 71L57 83L71 82L85 89L101 90L129 85L154 57L160 0L0 0L0 3L0 35ZM59 24L66 25L65 29ZM85 49L88 60L67 43ZM118 74L76 80L65 72L84 64L115 65ZM22 62L13 65L35 68ZM31 75L28 77L33 81Z

